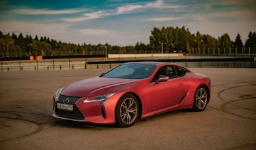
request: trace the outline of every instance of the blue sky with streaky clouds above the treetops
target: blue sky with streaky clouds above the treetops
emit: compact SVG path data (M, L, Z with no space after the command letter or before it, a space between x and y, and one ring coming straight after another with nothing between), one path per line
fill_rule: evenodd
M242 41L256 31L255 0L0 0L0 31L76 44L149 43L154 27Z

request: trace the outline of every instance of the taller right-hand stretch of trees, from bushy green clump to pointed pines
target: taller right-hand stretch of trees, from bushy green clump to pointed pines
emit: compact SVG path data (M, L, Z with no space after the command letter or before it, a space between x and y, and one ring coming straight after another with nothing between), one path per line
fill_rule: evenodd
M150 35L150 45L153 49L164 49L164 51L184 52L189 54L248 54L256 52L256 34L250 32L246 42L243 44L240 34L236 36L235 41L231 41L227 33L216 39L211 35L202 35L197 31L191 34L188 29L162 27L162 29L154 28Z

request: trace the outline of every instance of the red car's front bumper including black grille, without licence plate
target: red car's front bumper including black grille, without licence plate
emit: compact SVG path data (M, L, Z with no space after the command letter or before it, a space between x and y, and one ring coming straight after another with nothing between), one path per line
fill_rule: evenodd
M53 98L53 117L71 121L86 121L94 124L115 124L115 106L122 94L115 94L104 103L83 102L87 97L76 98L60 95L58 100ZM69 102L66 102L68 98ZM73 105L73 111L57 109L57 103Z

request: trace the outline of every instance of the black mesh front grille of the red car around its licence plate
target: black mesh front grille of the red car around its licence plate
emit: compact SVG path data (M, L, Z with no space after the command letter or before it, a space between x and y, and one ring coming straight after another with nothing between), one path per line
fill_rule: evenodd
M73 111L66 111L62 109L57 109L57 105L55 107L56 115L59 117L66 117L69 119L85 119L83 117L83 114L79 110L78 107L76 107L76 101L79 100L81 97L70 97L70 96L63 96L60 95L59 99L57 100L57 103L61 104L67 104L67 105L73 105Z

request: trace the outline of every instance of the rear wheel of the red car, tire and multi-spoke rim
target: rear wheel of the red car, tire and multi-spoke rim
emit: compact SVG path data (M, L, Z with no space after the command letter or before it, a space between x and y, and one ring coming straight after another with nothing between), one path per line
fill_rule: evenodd
M199 86L195 92L193 111L203 111L208 104L208 90L204 86Z

